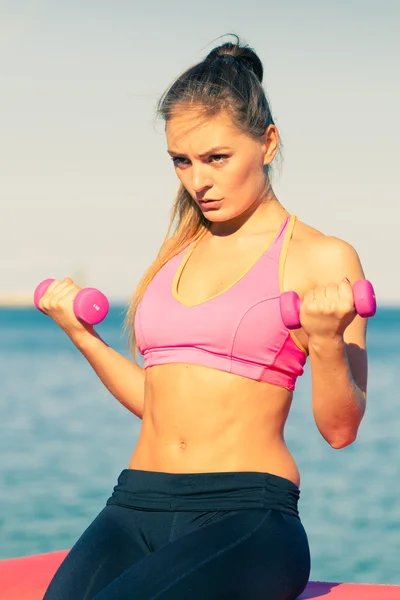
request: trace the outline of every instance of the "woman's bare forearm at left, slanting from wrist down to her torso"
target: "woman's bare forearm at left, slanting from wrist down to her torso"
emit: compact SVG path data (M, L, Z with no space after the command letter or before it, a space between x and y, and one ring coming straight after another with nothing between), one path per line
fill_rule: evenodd
M72 341L108 391L141 419L144 404L144 370L107 346L95 331Z

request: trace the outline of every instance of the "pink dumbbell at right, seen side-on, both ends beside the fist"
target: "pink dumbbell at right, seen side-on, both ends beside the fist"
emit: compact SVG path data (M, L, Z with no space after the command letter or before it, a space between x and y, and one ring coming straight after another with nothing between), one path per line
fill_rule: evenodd
M354 306L360 317L373 317L376 313L376 299L372 283L360 279L353 285ZM300 324L301 300L296 292L283 292L280 297L282 321L288 329L298 329Z

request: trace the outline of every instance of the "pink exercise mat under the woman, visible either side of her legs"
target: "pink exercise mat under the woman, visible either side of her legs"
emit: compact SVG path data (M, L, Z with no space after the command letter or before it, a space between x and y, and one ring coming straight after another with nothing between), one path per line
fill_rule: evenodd
M67 550L0 560L0 598L42 600ZM298 600L400 600L400 586L310 582ZM249 598L251 600L251 598Z

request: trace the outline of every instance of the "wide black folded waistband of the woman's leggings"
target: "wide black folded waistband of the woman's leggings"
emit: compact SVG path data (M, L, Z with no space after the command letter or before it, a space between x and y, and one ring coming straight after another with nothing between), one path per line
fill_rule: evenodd
M260 472L162 473L124 469L107 504L141 510L273 509L298 517L299 488Z

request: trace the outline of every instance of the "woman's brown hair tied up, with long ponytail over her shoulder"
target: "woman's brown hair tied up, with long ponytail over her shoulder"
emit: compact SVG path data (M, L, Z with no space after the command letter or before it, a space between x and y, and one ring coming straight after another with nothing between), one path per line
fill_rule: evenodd
M263 66L252 48L227 42L214 48L203 61L184 71L164 92L157 105L157 116L168 122L179 109L194 109L202 119L227 112L235 126L259 140L273 125L270 107L262 87ZM266 167L267 181L268 167ZM181 184L172 207L167 234L158 256L145 272L133 293L127 310L124 331L128 331L132 356L137 345L134 319L138 304L158 271L176 254L197 239L209 221Z

